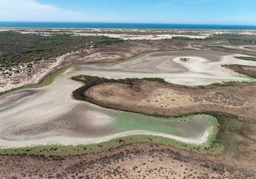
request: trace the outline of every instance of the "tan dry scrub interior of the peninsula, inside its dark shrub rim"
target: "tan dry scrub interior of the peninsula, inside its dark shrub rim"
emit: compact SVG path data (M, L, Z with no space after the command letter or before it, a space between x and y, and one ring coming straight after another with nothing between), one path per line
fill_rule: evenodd
M152 81L133 84L104 82L85 95L102 106L146 114L179 115L221 111L247 118L256 117L256 86L225 86L191 89Z

